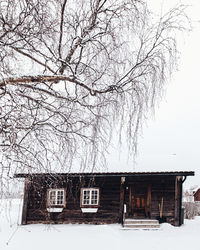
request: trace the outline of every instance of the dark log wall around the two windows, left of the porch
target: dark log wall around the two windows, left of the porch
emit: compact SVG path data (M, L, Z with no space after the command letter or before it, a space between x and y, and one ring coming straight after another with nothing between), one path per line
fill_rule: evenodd
M28 191L27 223L119 223L121 177L97 178L32 178ZM82 187L100 188L97 213L82 213ZM66 206L61 213L47 212L47 190L66 189Z

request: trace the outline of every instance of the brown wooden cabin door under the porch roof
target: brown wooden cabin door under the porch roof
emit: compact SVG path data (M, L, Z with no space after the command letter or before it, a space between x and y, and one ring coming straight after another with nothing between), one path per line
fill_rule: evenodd
M131 185L129 189L129 216L133 218L147 217L148 187L142 184Z

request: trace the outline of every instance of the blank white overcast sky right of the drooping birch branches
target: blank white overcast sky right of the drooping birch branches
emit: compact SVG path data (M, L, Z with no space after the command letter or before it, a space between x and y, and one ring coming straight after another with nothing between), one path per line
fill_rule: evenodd
M179 70L168 83L155 117L143 129L136 163L127 163L124 152L120 160L116 157L112 163L129 171L194 170L195 177L188 177L186 186L200 186L200 1L147 2L158 12L176 3L191 5L188 15L193 31L180 43Z

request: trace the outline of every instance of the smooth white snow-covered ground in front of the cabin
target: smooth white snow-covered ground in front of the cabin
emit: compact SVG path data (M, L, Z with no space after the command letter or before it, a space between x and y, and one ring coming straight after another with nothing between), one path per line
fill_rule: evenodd
M20 226L20 200L0 201L0 250L199 250L200 217L179 228L167 223L156 231L122 230L120 225Z

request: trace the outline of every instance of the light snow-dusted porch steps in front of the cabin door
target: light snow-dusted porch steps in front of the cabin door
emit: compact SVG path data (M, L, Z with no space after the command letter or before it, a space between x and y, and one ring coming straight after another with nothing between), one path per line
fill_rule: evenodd
M159 229L158 220L148 219L125 219L124 229Z

